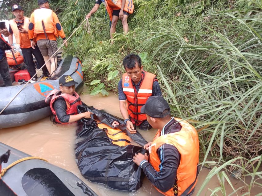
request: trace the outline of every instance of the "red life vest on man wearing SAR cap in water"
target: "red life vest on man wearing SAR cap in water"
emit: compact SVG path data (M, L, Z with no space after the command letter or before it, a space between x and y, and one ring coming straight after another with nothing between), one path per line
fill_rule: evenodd
M61 124L68 124L68 123L60 122L59 119L57 118L55 109L53 108L53 103L55 102L55 100L59 98L60 96L63 97L66 101L66 106L67 106L66 114L75 115L75 114L78 114L76 107L82 104L82 101L76 92L75 92L75 95L76 96L73 96L67 93L61 94L61 91L57 89L52 90L51 93L47 95L45 101L46 103L50 103L50 108L51 108L52 113L55 115L56 122L61 123ZM50 101L50 98L51 98L51 101Z

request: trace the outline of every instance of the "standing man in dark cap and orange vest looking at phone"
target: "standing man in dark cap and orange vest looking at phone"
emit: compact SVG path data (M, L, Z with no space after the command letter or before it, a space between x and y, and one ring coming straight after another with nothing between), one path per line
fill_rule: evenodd
M24 16L23 8L17 4L14 4L12 6L12 14L14 14L15 19L10 20L10 26L9 26L10 35L8 36L8 40L9 43L12 44L13 34L14 34L15 41L18 45L20 45L20 48L22 50L23 57L27 64L27 70L30 74L30 77L33 77L33 75L36 73L33 54L40 67L42 67L43 64L45 64L45 61L38 46L35 46L35 49L31 47L30 39L28 37L29 18ZM11 46L11 48L14 49L14 46ZM46 66L44 66L42 70L43 70L43 75L45 76L49 75ZM33 78L34 81L36 81L36 79L37 76Z

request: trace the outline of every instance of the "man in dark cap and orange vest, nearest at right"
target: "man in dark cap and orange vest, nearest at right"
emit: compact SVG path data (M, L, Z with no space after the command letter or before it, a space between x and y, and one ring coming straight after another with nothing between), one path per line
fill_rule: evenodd
M163 195L191 195L199 173L197 131L188 122L171 117L168 103L160 96L149 97L141 112L158 132L153 142L144 146L149 157L138 153L133 162Z

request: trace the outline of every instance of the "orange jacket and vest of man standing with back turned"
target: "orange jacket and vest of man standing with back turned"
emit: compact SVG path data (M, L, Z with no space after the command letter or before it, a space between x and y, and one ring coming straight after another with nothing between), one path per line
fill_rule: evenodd
M36 9L31 14L28 31L29 39L36 38L37 41L39 39L47 39L44 34L45 32L43 30L42 21L49 40L56 40L58 36L65 38L63 28L57 15L50 9L40 8ZM60 26L61 28L57 29L57 26Z

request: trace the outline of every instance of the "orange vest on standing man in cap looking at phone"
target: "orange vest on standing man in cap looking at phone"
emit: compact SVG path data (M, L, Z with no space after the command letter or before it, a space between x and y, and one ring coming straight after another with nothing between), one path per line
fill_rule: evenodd
M20 45L20 48L30 48L31 43L29 40L28 33L19 32L15 19L10 20L10 26L14 33L15 41L18 45ZM28 31L28 26L29 26L29 18L24 16L24 25L22 27Z

